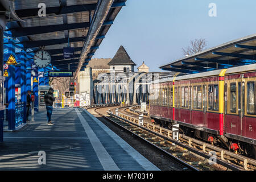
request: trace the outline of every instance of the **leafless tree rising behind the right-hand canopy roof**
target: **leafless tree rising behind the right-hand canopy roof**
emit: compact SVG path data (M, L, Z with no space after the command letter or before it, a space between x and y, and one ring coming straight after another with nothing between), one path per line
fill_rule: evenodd
M182 48L183 55L193 55L194 53L203 51L205 47L207 46L206 40L201 38L201 39L195 39L190 41L190 46L186 48Z

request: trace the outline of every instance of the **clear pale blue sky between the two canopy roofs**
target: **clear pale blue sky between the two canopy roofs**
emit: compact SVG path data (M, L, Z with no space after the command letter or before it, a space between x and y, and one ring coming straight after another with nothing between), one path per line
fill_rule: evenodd
M217 17L208 15L209 3ZM211 48L255 34L255 17L255 0L127 0L93 58L112 58L122 45L137 67L144 61L161 71L184 57L190 40L205 38Z

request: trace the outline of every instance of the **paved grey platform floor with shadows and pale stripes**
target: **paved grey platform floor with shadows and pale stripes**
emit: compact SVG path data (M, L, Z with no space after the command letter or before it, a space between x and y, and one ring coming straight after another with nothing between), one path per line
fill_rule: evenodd
M0 170L159 170L84 109L53 109L52 121L40 111L34 123L5 132Z

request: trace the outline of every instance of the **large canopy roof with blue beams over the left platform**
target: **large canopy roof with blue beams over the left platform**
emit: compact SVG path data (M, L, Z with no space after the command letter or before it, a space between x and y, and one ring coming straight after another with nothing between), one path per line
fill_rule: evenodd
M105 38L126 0L1 0L5 7L4 48L15 38L16 52L44 48L57 70L79 72ZM39 3L46 5L46 16L39 17ZM39 8L39 7L40 8ZM10 13L8 13L10 12ZM75 48L73 59L63 57L64 47ZM68 66L69 64L69 66ZM75 77L76 77L75 76Z

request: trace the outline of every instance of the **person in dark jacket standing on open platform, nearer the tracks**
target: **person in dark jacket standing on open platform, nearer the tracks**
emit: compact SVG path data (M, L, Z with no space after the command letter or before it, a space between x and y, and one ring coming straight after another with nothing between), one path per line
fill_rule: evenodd
M55 97L53 97L53 91L54 90L52 88L49 88L48 93L44 96L44 102L46 103L48 125L53 125L53 122L51 122L52 105L55 101Z

